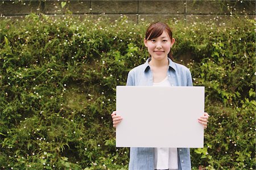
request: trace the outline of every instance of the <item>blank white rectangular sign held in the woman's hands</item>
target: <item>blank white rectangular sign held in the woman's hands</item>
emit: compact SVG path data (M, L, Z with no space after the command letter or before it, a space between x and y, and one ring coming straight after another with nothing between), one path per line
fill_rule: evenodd
M204 87L117 86L117 147L204 147Z

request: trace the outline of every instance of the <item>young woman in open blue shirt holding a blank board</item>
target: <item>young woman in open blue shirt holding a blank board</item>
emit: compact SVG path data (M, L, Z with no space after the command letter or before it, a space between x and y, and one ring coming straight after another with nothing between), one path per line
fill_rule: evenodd
M151 24L144 38L150 58L129 72L127 86L192 86L189 69L173 62L174 42L167 24ZM209 114L202 114L198 122L207 128ZM116 111L111 116L116 128L122 117L116 115ZM129 169L191 169L189 148L130 148Z

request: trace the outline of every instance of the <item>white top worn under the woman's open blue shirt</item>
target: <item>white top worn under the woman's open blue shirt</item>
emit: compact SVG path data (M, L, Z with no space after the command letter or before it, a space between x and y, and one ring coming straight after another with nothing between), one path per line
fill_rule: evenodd
M162 82L153 83L153 86L171 86L171 84L166 76ZM154 169L178 169L177 148L154 148Z

